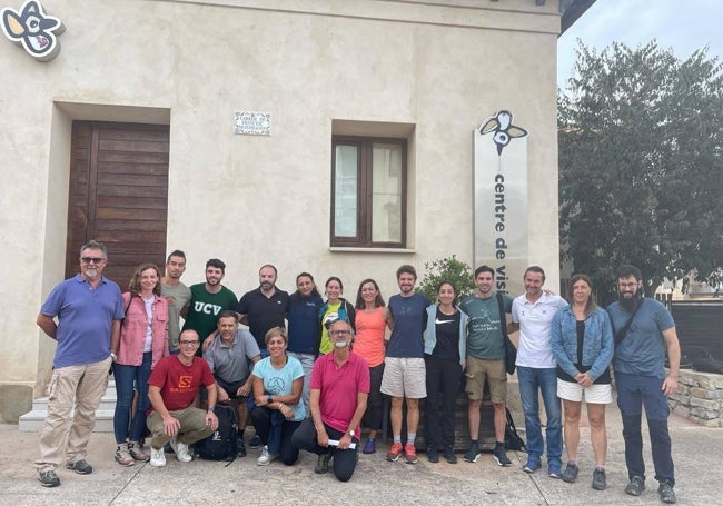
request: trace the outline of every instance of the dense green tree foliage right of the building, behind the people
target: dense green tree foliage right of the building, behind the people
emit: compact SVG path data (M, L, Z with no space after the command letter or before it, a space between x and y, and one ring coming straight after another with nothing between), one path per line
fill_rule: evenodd
M723 266L723 78L707 48L681 60L656 42L597 53L578 41L558 100L564 259L602 298L614 269L641 268L646 292Z

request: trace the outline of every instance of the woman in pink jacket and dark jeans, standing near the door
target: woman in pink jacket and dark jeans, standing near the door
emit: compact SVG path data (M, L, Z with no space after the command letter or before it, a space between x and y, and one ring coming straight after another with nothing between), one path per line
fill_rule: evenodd
M116 460L132 466L150 457L140 440L146 431L148 377L158 360L168 355L168 305L160 296L160 272L153 264L136 269L123 294L126 318L120 327L120 343L113 353L116 379ZM131 418L133 388L138 390L136 413Z

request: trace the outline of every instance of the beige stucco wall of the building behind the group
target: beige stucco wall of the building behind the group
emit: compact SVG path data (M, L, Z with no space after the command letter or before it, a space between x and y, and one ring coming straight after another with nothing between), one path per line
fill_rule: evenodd
M403 262L472 262L471 131L509 109L531 132L531 262L556 289L556 1L47 8L67 27L56 60L0 40L0 384L39 394L49 369L52 343L34 319L62 278L73 119L170 125L168 248L186 250L187 284L218 257L240 295L270 261L285 289L308 270L319 284L341 277L354 298L368 276L392 295ZM235 136L235 110L270 112L273 135ZM334 120L413 126L408 251L330 251Z

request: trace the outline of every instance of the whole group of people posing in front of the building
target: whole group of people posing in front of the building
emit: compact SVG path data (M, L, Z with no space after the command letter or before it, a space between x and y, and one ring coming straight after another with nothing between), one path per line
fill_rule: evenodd
M404 456L406 463L417 463L419 401L426 399L427 459L436 463L442 453L456 463L454 411L460 381L468 397L471 438L464 460L474 463L481 455L486 383L494 409L493 458L511 466L505 453L505 339L518 331L516 369L528 454L523 469L542 467L546 443L548 475L575 482L584 398L595 457L592 484L605 488L612 363L630 475L625 490L644 490L645 405L658 494L665 503L675 502L666 396L677 388L680 347L670 314L642 297L641 272L633 266L618 270L620 300L604 310L595 305L586 276L573 277L567 304L543 290L545 272L536 266L525 271L525 294L517 298L495 292L495 271L482 266L474 274L473 295L457 301L456 287L443 281L433 304L415 291L416 270L404 265L396 272L399 294L386 305L374 279L360 282L356 304L344 299L337 277L326 281L324 300L308 272L297 276L297 289L288 295L276 287L271 265L259 270L259 287L237 299L221 284L226 265L218 259L207 261L206 282L189 288L180 281L186 269L180 250L168 256L164 276L151 264L139 266L121 295L102 276L106 262L105 245L83 245L80 274L58 285L38 316L38 325L58 341L37 460L43 486L60 484L55 469L63 462L76 473L92 472L86 447L110 367L118 393L115 458L123 466L148 460L164 466L168 444L178 460L190 462L190 446L218 428L217 403L229 403L238 415L240 456L246 455L244 429L250 418L256 436L249 446L260 447L257 464L278 458L293 465L299 449L306 449L318 455L316 473L327 473L331 463L335 476L348 480L358 452L376 452L377 431L386 423L384 396L389 397L393 435L387 460ZM143 452L147 434L150 455Z

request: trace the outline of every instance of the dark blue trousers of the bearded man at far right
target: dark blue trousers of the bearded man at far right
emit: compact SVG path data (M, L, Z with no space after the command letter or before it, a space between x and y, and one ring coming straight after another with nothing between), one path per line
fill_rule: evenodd
M641 431L642 407L645 406L655 479L675 485L671 436L667 431L670 407L667 397L661 389L663 380L654 376L615 373L615 381L617 384L617 406L623 417L625 464L628 477L645 478L643 434Z

